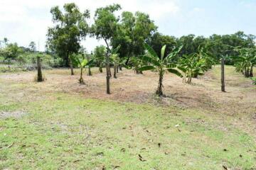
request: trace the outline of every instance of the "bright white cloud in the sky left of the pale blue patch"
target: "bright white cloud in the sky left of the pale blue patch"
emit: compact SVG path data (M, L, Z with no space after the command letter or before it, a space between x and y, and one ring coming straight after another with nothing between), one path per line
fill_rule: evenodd
M163 16L175 15L179 11L176 0L9 0L0 1L0 39L6 37L11 42L28 46L29 42L40 41L41 48L46 42L47 28L52 25L50 8L63 6L65 3L75 2L80 10L90 9L92 16L96 8L108 4L120 4L123 11L142 11L149 13L154 21ZM87 38L83 43L88 50L95 45L103 44L92 38Z

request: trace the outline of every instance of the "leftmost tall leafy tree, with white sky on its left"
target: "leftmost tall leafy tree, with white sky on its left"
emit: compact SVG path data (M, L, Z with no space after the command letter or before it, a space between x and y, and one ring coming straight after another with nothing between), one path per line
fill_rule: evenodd
M86 10L81 13L74 3L65 4L63 8L64 13L60 11L58 6L50 9L55 26L48 29L48 47L63 57L66 67L70 64L71 75L73 75L73 64L70 56L78 52L80 40L85 38L89 31L86 19L90 18L90 12Z

